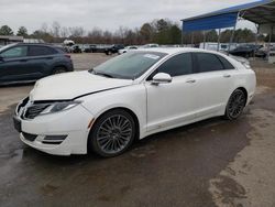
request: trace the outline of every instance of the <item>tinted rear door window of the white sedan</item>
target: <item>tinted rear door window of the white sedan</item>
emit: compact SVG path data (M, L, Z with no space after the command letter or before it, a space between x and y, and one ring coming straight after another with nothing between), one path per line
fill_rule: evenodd
M220 59L210 53L196 53L199 72L216 72L223 70L223 65Z

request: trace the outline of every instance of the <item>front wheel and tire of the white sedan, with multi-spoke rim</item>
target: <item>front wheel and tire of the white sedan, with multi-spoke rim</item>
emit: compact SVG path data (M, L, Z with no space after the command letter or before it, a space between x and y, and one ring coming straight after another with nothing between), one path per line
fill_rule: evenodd
M95 122L88 150L103 157L118 156L132 144L135 132L135 122L129 112L122 109L108 111Z

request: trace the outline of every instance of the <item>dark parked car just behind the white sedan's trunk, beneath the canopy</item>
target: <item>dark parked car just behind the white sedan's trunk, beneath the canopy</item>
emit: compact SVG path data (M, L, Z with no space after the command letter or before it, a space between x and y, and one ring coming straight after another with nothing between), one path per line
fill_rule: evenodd
M230 51L229 53L234 56L241 56L241 57L254 57L255 56L263 56L263 53L260 51L262 46L260 45L252 45L252 44L246 44L246 45L241 45L235 47L234 50Z

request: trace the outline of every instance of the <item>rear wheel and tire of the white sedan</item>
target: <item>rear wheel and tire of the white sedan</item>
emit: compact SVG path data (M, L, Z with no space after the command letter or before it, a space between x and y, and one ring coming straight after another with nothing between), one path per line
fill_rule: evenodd
M226 109L226 119L235 120L238 119L242 112L244 107L246 106L246 95L243 90L237 89L232 92L229 98L227 109Z

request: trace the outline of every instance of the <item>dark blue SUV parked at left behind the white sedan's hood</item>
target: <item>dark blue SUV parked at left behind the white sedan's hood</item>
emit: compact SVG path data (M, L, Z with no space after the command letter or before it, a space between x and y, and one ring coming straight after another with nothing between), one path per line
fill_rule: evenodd
M18 43L0 48L0 85L34 81L73 70L70 56L62 47Z

